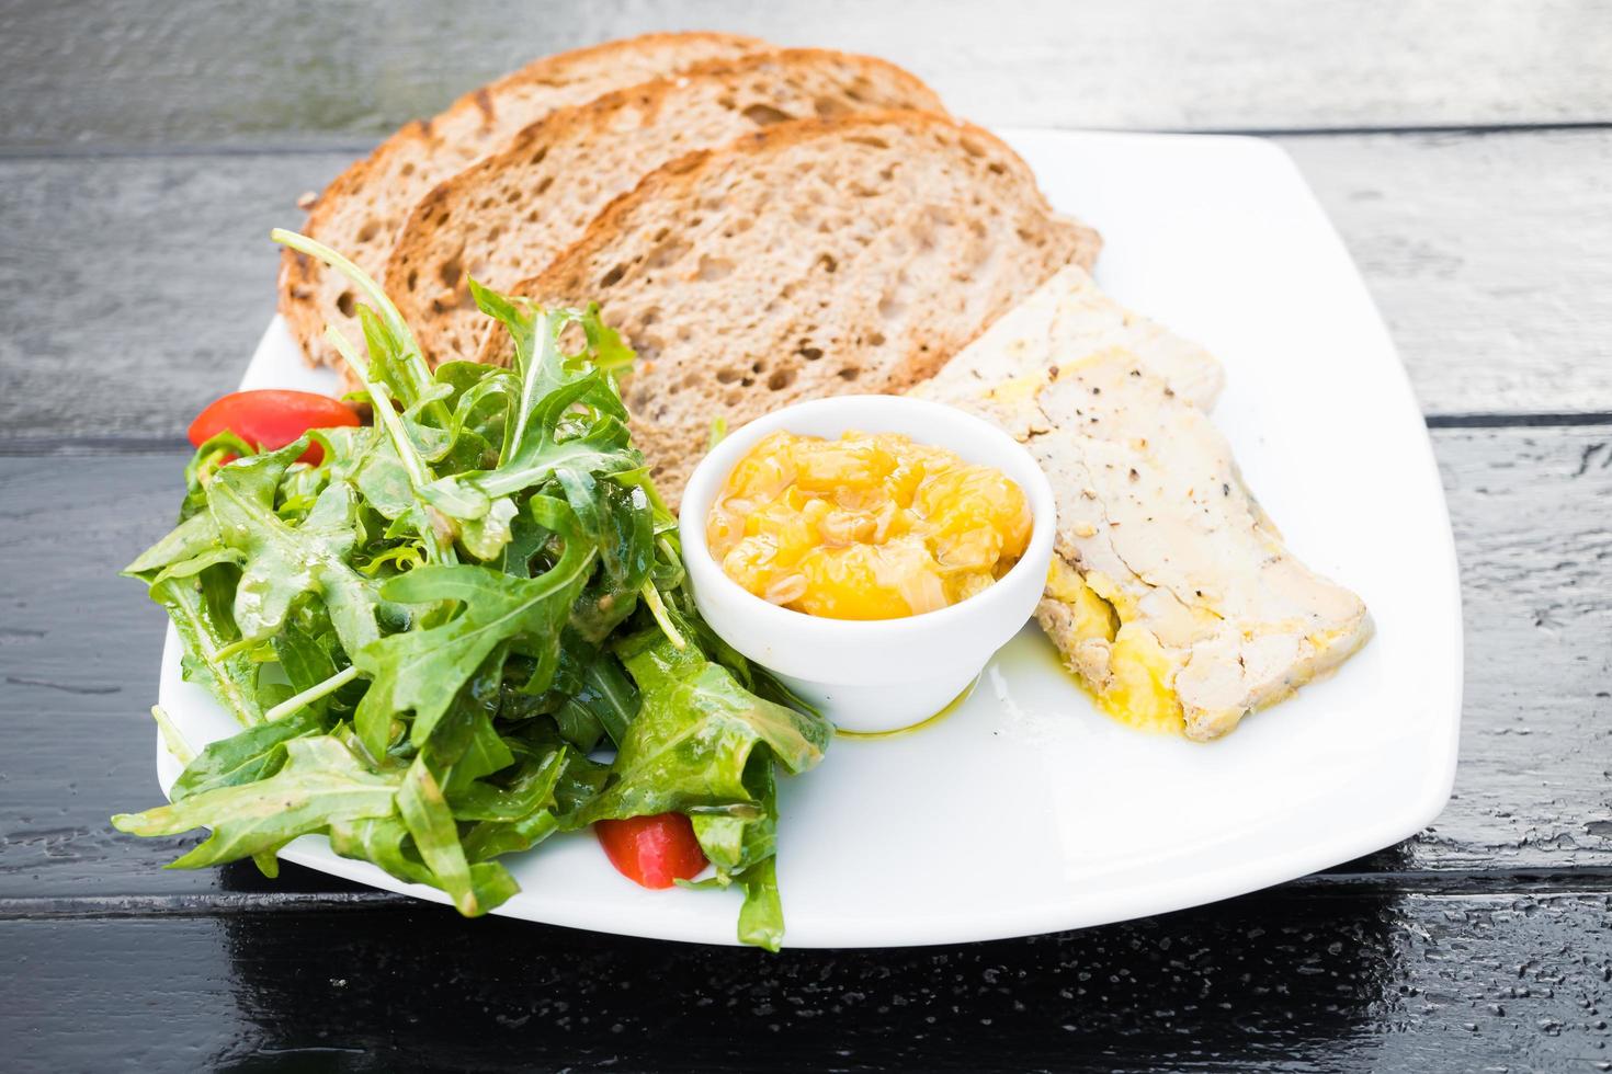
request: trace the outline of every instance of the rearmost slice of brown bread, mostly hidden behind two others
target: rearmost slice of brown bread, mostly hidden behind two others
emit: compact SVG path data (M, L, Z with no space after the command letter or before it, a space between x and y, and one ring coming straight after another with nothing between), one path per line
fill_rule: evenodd
M600 93L762 48L762 42L729 34L646 34L545 56L382 142L324 188L303 232L379 277L398 229L421 196L501 150L522 127ZM280 312L308 361L339 364L324 328L334 324L348 335L358 332L355 295L345 279L287 250L280 256L279 291Z

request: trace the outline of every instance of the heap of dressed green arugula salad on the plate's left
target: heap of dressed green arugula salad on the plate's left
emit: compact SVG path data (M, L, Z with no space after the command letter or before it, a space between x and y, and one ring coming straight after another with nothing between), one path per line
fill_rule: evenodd
M276 238L369 299L368 359L330 338L376 420L197 449L179 525L124 573L240 731L192 752L155 710L184 773L169 805L113 823L208 828L172 868L250 857L269 876L279 847L319 832L480 915L517 890L503 855L682 813L716 870L696 886L738 884L738 939L777 950L775 766L816 765L832 728L695 610L627 430L632 351L596 308L472 283L514 367L432 374L359 269Z

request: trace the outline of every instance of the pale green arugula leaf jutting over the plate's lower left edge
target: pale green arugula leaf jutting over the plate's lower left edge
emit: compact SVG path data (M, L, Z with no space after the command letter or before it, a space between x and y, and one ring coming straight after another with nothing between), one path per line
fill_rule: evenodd
M285 765L266 779L202 791L143 813L119 813L111 823L134 836L211 828L202 845L168 866L193 870L274 850L330 821L392 813L398 779L369 771L339 739L297 737L284 749Z

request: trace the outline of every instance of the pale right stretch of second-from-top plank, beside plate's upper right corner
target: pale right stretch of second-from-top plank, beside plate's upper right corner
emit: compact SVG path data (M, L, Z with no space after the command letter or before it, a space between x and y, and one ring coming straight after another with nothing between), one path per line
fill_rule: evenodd
M1612 411L1612 134L1282 145L1361 266L1427 411Z

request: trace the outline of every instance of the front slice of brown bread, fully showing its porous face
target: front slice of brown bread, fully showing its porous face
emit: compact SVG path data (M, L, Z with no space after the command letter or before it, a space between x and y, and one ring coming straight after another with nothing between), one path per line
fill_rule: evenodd
M1099 245L985 130L866 113L666 164L514 290L603 304L638 353L624 385L637 443L677 502L714 419L899 391ZM508 361L506 343L488 337L482 361Z

